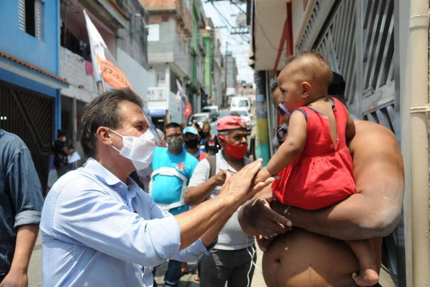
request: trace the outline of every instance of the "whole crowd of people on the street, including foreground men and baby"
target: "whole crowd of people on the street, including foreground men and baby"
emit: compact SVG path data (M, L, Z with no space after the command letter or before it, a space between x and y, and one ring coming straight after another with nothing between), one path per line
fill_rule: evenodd
M217 135L207 122L151 131L139 96L108 91L82 115L82 168L64 172L74 150L58 132L45 200L28 148L0 129L0 287L27 284L38 225L44 286L157 286L168 260L164 286L197 261L201 286L249 287L255 238L268 286L378 286L402 157L389 130L328 96L331 84L319 54L284 67L272 101L288 130L265 167L246 156L240 116L218 119Z

